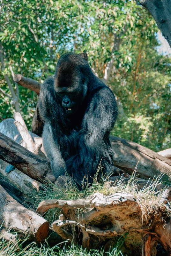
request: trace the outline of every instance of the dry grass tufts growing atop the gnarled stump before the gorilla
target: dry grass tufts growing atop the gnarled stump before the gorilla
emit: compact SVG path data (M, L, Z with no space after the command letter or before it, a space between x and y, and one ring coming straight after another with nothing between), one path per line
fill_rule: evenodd
M136 198L136 201L142 211L144 216L149 214L154 214L155 212L166 212L164 203L161 201L163 190L157 191L157 185L161 184L162 176L154 177L154 179L149 182L148 185L145 185L143 189L138 189L137 179L136 179L136 170L132 174L129 182L125 182L122 176L115 182L110 188L105 185L107 179L101 179L97 181L97 175L100 172L100 168L94 177L93 184L84 183L82 190L79 190L76 184L72 182L67 184L66 188L58 188L53 183L49 182L44 186L44 191L35 195L35 207L42 201L46 199L61 199L61 200L74 200L81 198L88 198L93 196L94 193L101 193L105 196L112 195L114 193L120 192L124 194L131 194ZM76 211L71 211L74 216L71 216L71 219L76 220L77 216L80 214L82 209ZM56 220L61 213L61 209L50 209L46 213L45 218L51 223ZM166 212L168 215L170 213Z

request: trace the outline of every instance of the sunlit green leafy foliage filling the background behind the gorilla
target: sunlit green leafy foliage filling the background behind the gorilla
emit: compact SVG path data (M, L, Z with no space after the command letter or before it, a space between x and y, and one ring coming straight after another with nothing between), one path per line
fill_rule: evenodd
M85 51L102 78L113 58L108 85L118 98L120 115L112 134L156 151L171 147L171 59L157 52L156 23L135 1L3 0L0 24L5 66L0 84L7 94L11 96L5 74L17 93L11 70L43 82L63 53ZM112 52L115 34L122 42L119 51ZM3 120L15 109L9 97L1 96ZM19 86L19 106L29 129L36 102L34 92Z

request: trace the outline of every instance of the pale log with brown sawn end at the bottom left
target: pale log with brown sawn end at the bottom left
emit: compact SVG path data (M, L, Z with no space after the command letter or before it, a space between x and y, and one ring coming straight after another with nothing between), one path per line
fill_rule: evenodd
M36 242L43 242L48 235L48 221L19 204L2 186L0 186L0 221L5 228L20 231Z

